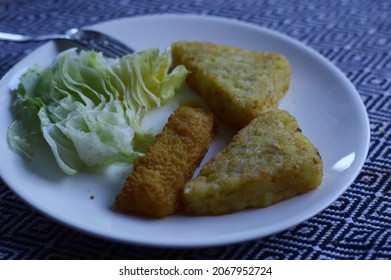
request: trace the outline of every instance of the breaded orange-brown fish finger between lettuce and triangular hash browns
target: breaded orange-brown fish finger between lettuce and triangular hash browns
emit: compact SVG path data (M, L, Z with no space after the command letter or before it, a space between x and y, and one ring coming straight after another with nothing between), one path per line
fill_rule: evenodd
M208 151L214 130L211 113L200 108L177 109L155 144L134 165L116 206L156 218L175 212L185 183Z

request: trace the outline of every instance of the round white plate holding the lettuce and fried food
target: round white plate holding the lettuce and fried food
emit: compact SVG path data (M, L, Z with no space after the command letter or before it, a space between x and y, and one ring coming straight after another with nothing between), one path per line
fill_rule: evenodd
M27 67L34 63L48 65L65 47L47 43L15 65L0 82L0 174L15 193L49 217L87 233L129 243L168 247L221 245L261 238L303 222L330 205L358 175L370 137L366 110L349 80L312 49L279 33L218 17L144 16L104 22L93 28L138 50L165 48L177 40L207 40L284 54L290 61L292 77L280 107L296 116L304 134L319 148L324 181L305 195L231 215L173 215L153 220L118 213L113 201L128 170L112 169L106 174L85 171L67 177L44 148L31 163L9 149L9 87L17 83ZM157 126L164 122L163 119ZM207 158L224 142L224 136L218 137ZM91 195L95 198L90 199Z

